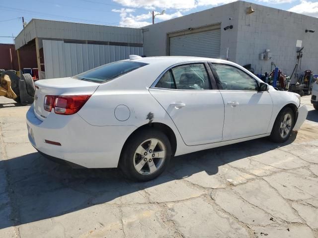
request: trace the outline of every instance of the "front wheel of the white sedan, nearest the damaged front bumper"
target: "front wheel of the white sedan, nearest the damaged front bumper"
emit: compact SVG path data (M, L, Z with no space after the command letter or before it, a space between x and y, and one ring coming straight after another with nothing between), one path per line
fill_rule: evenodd
M295 115L291 108L282 109L278 114L270 134L270 139L276 143L288 140L295 121Z

